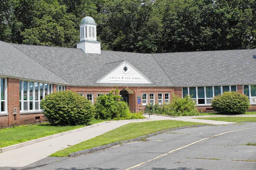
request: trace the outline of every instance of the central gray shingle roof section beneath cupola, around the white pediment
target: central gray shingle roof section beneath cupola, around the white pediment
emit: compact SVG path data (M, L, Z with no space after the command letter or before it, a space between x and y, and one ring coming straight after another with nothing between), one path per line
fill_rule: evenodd
M72 85L95 85L95 80L104 64L127 59L156 84L150 86L173 86L151 54L118 51L101 51L101 54L89 54L76 48L12 45ZM128 84L128 86L132 85ZM139 86L148 85L140 84Z

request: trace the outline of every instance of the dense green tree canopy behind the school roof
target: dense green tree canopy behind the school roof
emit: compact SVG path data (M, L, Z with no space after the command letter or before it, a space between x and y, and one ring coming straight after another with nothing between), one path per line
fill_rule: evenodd
M85 16L102 50L256 48L255 0L0 0L0 40L76 47Z

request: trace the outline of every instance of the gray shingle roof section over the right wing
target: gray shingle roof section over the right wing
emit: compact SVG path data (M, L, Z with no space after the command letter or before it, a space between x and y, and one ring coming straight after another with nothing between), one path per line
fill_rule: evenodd
M152 55L175 86L256 84L256 49Z

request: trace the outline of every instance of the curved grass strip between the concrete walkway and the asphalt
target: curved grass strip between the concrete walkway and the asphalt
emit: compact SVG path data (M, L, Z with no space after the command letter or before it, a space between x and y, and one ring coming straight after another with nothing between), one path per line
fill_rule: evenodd
M68 156L68 154L72 152L106 145L106 144L120 141L120 140L133 139L133 138L154 133L157 131L177 128L181 126L197 125L197 124L204 124L204 123L184 122L184 121L176 121L176 120L160 120L160 121L129 123L117 129L114 129L112 131L99 135L97 137L91 138L89 140L83 141L71 147L57 151L50 156L64 157L64 156Z

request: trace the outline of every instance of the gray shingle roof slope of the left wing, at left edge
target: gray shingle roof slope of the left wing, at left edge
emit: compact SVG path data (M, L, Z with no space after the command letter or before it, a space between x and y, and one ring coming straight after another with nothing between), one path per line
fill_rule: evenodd
M9 43L0 41L0 75L42 82L69 84Z

